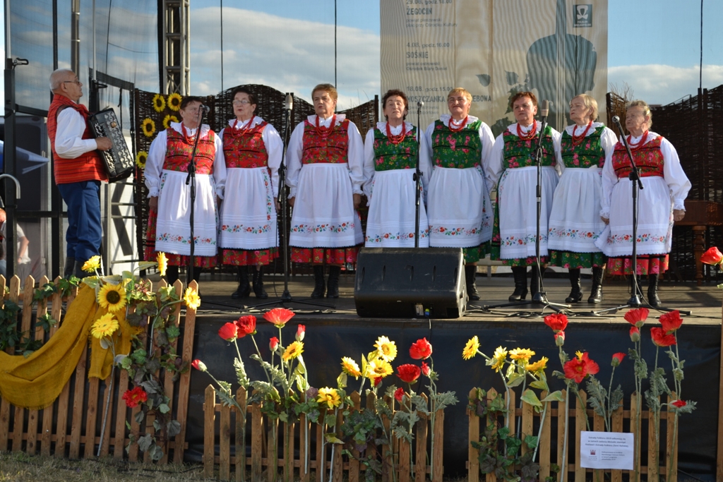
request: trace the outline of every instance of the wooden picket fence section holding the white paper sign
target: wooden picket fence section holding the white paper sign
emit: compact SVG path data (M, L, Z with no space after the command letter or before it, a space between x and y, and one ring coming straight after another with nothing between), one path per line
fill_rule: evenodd
M469 400L474 403L477 400L477 389L472 389L469 392ZM592 480L603 481L609 480L611 482L622 482L623 474L630 475L630 480L633 480L634 470L592 470L586 469L580 466L579 454L580 454L580 436L582 431L588 430L586 427L586 413L590 421L590 430L592 431L604 431L605 422L604 419L594 413L594 410L588 409L583 410L581 403L587 406L587 394L583 390L579 392L580 400L577 398L570 400L570 411L567 421L565 420L565 401L552 402L547 408L547 416L545 416L544 423L542 425L542 433L540 434L538 442L538 457L539 462L539 480L544 481L546 477L550 475L550 466L552 463L557 464L558 467L562 467L562 445L564 443L565 434L565 423L574 423L574 426L570 427L568 431L568 465L567 472L565 473L565 481L585 481L586 473L591 473ZM675 395L675 394L674 394ZM491 389L487 392L487 403L490 400L494 400L497 397L497 391ZM567 390L562 390L562 398L565 400L567 397ZM640 444L641 437L638 436L637 429L634 423L636 418L636 400L637 395L633 393L630 397L630 406L625 409L620 407L612 413L612 431L618 433L633 433L635 443ZM675 400L675 398L668 397L668 403ZM505 405L508 403L508 396L505 395ZM510 417L508 418L508 427L510 434L515 434L517 431L518 421L521 422L521 431L523 436L534 435L536 436L539 431L540 418L542 413L535 413L532 405L523 403L522 408L515 408L515 392L510 390L509 405L510 406ZM484 433L485 427L489 424L496 424L496 426L503 426L504 420L492 420L492 416L486 417L487 420L483 420L479 416L476 416L471 408L467 409L469 416L469 440L479 441L479 434ZM521 420L520 420L521 419ZM649 410L642 410L641 412L641 431L644 436L645 430L647 429L648 439L648 450L646 453L641 453L641 460L638 460L638 473L647 474L648 481L657 481L659 476L662 476L667 481L677 481L677 433L673 433L673 422L675 420L675 413L661 410L659 418L654 417L654 413ZM553 422L554 421L554 422ZM568 422L569 421L569 422ZM664 421L665 423L660 423ZM659 460L659 466L656 467L655 457L656 453L659 452L659 444L656 444L654 427L658 426L659 440L665 443L665 457L661 457ZM555 426L555 433L553 433L552 427ZM551 448L557 447L557 459L552 460ZM526 453L527 449L525 444L522 444L522 453ZM469 458L467 461L467 474L469 482L479 482L480 476L486 477L486 482L495 482L497 478L494 473L487 475L479 472L479 451L469 445ZM668 473L669 461L672 457L672 470ZM646 463L643 464L643 461ZM604 476L604 473L609 475ZM560 480L559 473L557 480Z

